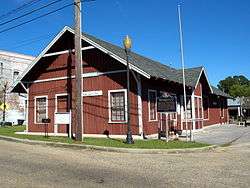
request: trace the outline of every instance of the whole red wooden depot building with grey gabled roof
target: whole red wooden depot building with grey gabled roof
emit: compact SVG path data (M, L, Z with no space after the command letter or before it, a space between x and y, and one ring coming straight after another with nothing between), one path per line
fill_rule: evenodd
M82 34L83 134L126 135L126 54L123 48ZM182 71L131 52L131 127L133 135L155 135L167 121L174 130L185 130ZM210 85L203 67L186 73L188 127L228 122L227 97ZM50 118L50 134L67 135L66 124L55 124L55 113L74 111L74 30L63 30L20 76L12 92L27 93L27 134L43 133L43 118ZM177 112L157 113L162 92L174 93ZM74 122L74 113L71 120ZM74 125L74 124L73 124ZM75 127L72 127L75 133Z

